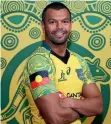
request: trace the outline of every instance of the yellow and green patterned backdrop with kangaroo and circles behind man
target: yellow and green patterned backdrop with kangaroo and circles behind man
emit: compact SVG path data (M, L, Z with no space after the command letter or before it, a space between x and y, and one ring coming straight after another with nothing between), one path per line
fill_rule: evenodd
M31 124L21 84L26 58L41 44L40 20L49 1L2 1L1 120L2 124ZM70 8L73 28L69 49L85 57L101 90L104 111L83 118L84 124L111 124L111 1L62 1Z

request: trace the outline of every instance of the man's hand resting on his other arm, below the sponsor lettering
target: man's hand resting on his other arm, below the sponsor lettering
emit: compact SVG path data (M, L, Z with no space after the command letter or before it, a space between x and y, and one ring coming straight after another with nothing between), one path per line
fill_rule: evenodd
M73 99L72 98L61 98L60 104L62 107L72 108L73 106Z

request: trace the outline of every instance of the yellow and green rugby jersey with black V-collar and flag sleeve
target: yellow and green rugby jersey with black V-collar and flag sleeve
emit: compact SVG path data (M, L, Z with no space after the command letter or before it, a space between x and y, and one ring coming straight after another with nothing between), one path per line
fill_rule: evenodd
M24 87L33 124L45 124L33 99L56 92L61 93L60 97L80 99L83 85L94 82L86 61L69 50L67 53L67 59L63 60L43 43L27 60ZM81 121L72 124L81 124Z

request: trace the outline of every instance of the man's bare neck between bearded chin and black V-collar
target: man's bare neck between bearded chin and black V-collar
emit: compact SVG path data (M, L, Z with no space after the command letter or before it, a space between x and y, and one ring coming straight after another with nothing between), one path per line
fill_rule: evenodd
M55 45L52 44L50 41L45 40L45 42L51 47L51 49L58 55L60 56L65 56L66 54L66 47L67 47L67 43L64 43L62 45Z

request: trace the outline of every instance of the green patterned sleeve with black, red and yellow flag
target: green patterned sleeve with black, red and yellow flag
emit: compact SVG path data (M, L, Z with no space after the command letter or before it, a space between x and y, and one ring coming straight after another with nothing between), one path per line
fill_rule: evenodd
M42 55L32 56L27 63L29 87L35 99L47 94L56 93L54 68L50 60Z

